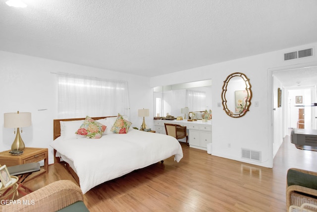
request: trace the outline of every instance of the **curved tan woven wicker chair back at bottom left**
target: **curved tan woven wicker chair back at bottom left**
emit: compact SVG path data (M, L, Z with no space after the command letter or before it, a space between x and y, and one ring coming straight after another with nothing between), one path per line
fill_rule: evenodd
M0 212L89 212L81 189L70 180L59 180L16 200L0 205Z

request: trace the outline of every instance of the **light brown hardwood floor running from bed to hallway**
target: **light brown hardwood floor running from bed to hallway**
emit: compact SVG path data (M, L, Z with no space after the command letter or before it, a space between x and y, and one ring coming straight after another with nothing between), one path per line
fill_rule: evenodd
M317 152L297 149L289 137L272 169L182 147L179 163L171 157L99 185L84 195L85 205L90 212L285 212L287 170L317 171ZM75 182L62 164L52 164L25 185L37 190L60 179Z

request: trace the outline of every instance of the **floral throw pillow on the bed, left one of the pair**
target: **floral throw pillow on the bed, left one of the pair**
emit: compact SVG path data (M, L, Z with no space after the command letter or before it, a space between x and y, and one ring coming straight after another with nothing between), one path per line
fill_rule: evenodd
M86 136L87 139L100 139L106 130L106 125L103 125L89 116L86 116L84 123L76 131L75 134Z

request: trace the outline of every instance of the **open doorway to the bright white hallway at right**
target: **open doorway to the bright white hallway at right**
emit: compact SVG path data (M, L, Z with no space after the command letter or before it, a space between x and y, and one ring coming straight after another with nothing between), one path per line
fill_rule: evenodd
M281 141L290 135L290 129L317 129L317 66L272 71L273 114L272 139L273 158ZM282 90L281 107L277 105L277 89ZM275 92L276 91L276 92ZM303 110L299 110L303 109Z

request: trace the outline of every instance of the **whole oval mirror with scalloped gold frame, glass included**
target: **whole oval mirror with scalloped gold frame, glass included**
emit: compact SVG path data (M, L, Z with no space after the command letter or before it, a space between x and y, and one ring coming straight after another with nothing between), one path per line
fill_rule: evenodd
M228 116L232 118L244 116L249 111L251 98L251 84L245 74L232 73L223 82L221 92L222 106Z

